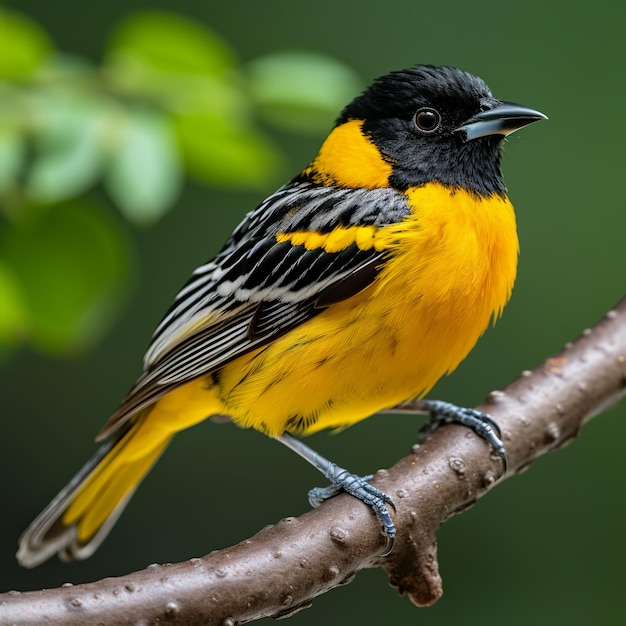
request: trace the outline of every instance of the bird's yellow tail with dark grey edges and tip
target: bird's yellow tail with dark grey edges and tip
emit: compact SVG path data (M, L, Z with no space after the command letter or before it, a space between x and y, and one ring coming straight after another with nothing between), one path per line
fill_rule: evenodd
M64 561L94 553L172 438L146 428L145 417L105 443L26 529L21 565L36 567L55 553Z

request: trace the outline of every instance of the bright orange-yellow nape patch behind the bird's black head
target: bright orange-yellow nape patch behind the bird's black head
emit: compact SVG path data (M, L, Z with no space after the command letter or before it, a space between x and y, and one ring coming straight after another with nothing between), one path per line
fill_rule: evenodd
M334 128L303 174L340 187L387 187L391 164L363 134L362 127L362 120L350 120Z

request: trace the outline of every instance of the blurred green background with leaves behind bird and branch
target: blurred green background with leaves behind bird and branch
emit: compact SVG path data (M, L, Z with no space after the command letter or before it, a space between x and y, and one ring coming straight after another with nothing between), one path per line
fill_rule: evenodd
M202 555L307 509L306 491L320 482L315 470L258 433L203 424L177 437L91 559L51 561L34 571L14 560L22 530L95 450L93 436L138 375L150 334L190 271L218 250L246 211L308 162L330 124L329 110L338 113L375 76L415 63L455 65L482 76L496 96L550 117L513 135L506 147L504 172L522 245L513 299L433 397L480 402L560 349L624 293L624 5L24 0L4 6L47 35L32 23L11 22L0 37L5 52L16 49L7 32L23 27L31 37L24 55L12 59L18 75L0 59L0 139L12 128L11 98L43 102L39 126L21 129L34 137L26 152L19 141L0 141L1 590L91 581ZM191 21L181 26L180 17L171 18L183 33L178 66L156 58L154 32L141 40L128 21L120 30L130 13L146 9ZM197 41L184 35L194 28ZM196 44L194 66L185 54ZM133 65L129 48L147 62ZM72 56L33 78L54 50ZM161 63L162 75L150 73L152 62ZM184 81L176 83L177 72ZM205 97L211 81L208 93L223 100ZM69 104L68 85L79 94ZM93 107L105 101L112 126L94 131ZM101 152L89 145L94 136L101 143L106 137ZM184 145L182 161L173 137ZM145 155L156 157L146 164ZM19 169L19 185L12 168ZM237 168L241 184L232 177ZM78 171L79 180L67 182L67 171ZM375 570L317 599L290 623L339 624L345 616L433 625L623 623L625 416L622 405L598 417L572 445L445 524L444 596L435 607L416 609ZM310 443L366 473L405 454L421 423L376 416Z

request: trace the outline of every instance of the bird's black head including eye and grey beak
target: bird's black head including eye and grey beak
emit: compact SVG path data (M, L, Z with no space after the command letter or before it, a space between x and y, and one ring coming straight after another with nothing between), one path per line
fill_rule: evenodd
M437 181L481 195L503 194L505 135L538 111L496 100L485 82L453 67L417 66L378 78L337 124L364 120L363 132L391 164L397 189Z

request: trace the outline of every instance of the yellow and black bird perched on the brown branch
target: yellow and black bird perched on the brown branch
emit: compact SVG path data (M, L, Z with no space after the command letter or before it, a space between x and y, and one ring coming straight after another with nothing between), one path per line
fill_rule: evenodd
M301 436L424 398L508 302L517 271L504 138L547 119L479 77L417 65L340 113L313 160L192 273L95 456L20 538L18 561L92 555L172 437L227 416L287 445L368 505L393 547L393 501ZM488 415L423 400L506 451Z

